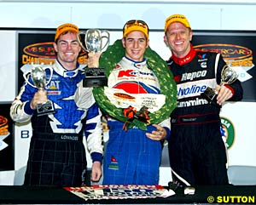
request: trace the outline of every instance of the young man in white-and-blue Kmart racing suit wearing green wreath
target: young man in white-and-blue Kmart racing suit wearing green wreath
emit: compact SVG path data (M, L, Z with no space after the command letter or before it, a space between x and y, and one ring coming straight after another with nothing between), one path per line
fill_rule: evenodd
M108 47L101 56L102 60L108 62L116 54L120 57L119 61L113 63L108 87L104 88L102 94L107 96L108 101L100 99L100 95L100 100L97 100L95 95L97 103L108 114L109 140L103 161L104 185L159 183L161 141L170 134L171 111L166 110L166 116L162 115L158 122L148 124L148 112L154 114L154 111L160 110L165 105L166 96L162 94L160 79L154 72L154 66L160 65L160 60L155 60L155 65L149 67L149 60L144 57L147 48L147 24L143 20L130 20L124 26L123 38ZM163 64L166 65L164 60ZM165 71L163 75L168 76L167 66ZM176 87L172 89L166 86L166 89L170 95L173 90L176 96ZM121 120L124 116L129 120ZM132 124L137 119L145 123L145 129Z

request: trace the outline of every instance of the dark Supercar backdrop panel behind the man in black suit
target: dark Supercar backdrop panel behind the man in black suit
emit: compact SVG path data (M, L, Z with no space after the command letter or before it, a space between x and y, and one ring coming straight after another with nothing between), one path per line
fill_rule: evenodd
M256 101L256 32L195 31L192 43L195 49L222 54L241 81L242 101Z

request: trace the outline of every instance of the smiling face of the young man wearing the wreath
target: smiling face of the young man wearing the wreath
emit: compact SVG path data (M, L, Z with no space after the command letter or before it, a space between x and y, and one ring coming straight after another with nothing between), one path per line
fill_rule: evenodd
M142 31L131 31L122 39L125 56L136 62L143 61L145 50L148 48L148 42Z

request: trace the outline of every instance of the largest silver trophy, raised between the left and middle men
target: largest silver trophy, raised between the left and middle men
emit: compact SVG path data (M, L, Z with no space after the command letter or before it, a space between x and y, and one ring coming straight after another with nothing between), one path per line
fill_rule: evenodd
M80 41L80 34L84 34L84 44ZM103 42L103 39L105 40ZM79 44L87 52L102 51L109 43L109 32L106 30L89 29L78 33ZM108 84L104 68L100 67L85 67L85 78L83 80L84 87L99 87Z

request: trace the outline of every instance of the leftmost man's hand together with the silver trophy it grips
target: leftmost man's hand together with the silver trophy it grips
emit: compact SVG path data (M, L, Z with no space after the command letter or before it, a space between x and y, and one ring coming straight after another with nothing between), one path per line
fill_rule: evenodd
M49 79L46 79L46 70L49 70ZM23 74L26 83L33 88L38 88L38 92L34 94L31 102L32 109L37 109L38 117L55 113L53 102L47 99L47 91L45 86L49 84L53 70L51 66L43 67L41 65L33 65L32 70ZM32 79L32 83L29 81Z

